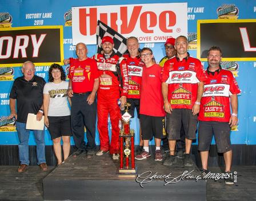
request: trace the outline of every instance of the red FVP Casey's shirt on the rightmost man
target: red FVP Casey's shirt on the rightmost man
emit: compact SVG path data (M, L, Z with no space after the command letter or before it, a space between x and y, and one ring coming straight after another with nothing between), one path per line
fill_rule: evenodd
M207 74L198 120L229 122L230 95L239 94L237 81L229 70Z

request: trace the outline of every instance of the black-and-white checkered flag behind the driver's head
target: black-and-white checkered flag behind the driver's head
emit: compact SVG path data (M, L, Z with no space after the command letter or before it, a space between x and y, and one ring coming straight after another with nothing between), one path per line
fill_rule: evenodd
M114 48L115 54L121 57L123 54L128 53L126 41L127 39L123 37L121 34L117 33L114 29L107 26L105 23L98 20L97 30L96 30L96 37L97 37L97 53L101 53L101 39L106 35L113 38L114 41Z

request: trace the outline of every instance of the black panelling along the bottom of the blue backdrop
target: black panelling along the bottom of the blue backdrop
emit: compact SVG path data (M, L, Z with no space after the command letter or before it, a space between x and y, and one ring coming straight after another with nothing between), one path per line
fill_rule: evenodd
M136 147L136 146L135 146ZM253 166L256 165L256 145L233 144L233 162L234 166ZM71 152L74 148L71 146ZM154 147L151 147L154 150ZM46 146L46 163L49 166L55 166L57 160L54 156L53 146ZM36 147L29 146L30 165L37 164ZM197 151L197 145L192 146L192 156L198 167L201 167L200 155ZM215 145L211 145L209 155L209 166L224 166L223 155L218 154ZM3 166L18 166L19 154L18 145L0 145L0 165Z

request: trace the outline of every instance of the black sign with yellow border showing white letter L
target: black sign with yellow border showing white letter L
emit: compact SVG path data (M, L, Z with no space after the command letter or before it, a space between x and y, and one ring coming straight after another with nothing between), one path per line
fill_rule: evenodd
M223 61L256 60L256 19L198 20L197 58L207 61L207 50L219 46Z

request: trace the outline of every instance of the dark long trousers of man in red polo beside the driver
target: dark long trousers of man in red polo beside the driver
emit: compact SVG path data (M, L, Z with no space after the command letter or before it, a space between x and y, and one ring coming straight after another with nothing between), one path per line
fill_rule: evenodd
M71 98L71 130L75 147L79 150L95 150L95 126L97 117L96 98L93 104L87 103L90 93L78 95L74 93ZM87 144L85 144L85 128Z

